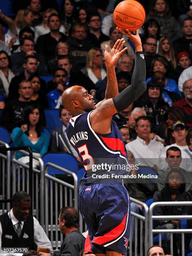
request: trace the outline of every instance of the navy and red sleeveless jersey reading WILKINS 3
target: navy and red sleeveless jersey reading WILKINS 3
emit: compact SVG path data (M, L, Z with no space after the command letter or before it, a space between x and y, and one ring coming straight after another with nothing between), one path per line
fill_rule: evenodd
M118 179L111 176L112 173L114 175L128 174L125 167L128 166L127 151L123 139L113 120L110 133L101 134L93 131L89 120L90 113L80 114L69 120L67 125L69 142L77 151L87 174L92 172L94 177L96 174L105 174L100 178L101 182L111 181L111 179L118 182ZM107 174L108 177L106 177ZM86 174L84 181L94 182L91 182ZM119 182L122 182L122 179Z

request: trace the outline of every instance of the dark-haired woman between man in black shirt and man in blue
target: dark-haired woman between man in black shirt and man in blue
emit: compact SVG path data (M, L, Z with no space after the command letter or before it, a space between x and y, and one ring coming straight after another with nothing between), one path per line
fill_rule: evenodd
M31 96L31 100L36 100L37 102L41 102L44 108L48 108L48 102L45 97L45 88L41 86L40 78L37 75L32 75L28 79L31 82L31 86L33 89L33 95Z

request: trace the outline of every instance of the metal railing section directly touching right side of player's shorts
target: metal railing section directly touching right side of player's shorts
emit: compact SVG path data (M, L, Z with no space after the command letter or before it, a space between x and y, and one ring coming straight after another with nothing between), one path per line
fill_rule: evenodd
M145 248L145 255L148 250L148 206L139 200L136 200L133 197L130 197L131 202L134 202L138 205L141 205L145 210L145 216L138 214L136 212L131 212L131 217L133 216L135 219L135 227L134 227L134 242L135 242L135 256L138 255L137 248L138 248L138 220L140 220L140 256L143 256L143 241L144 241L144 248ZM143 230L143 223L144 223L144 230ZM131 230L130 230L130 243L129 243L129 255L132 256L132 223L131 223ZM143 239L144 234L144 239Z

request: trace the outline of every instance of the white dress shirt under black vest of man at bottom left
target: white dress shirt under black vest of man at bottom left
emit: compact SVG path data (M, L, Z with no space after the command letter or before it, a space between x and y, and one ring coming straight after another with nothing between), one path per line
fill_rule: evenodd
M18 223L19 220L17 218L15 218L15 216L13 215L13 208L10 210L10 212L8 212L8 216L10 218L10 220L13 223L13 227L15 228L15 232L18 228ZM24 225L24 221L20 221L20 225L21 225L21 230L23 229L23 225ZM51 241L49 240L49 238L47 237L45 231L43 230L43 228L41 227L41 225L39 224L38 220L33 217L33 225L34 225L34 242L36 243L37 246L39 247L45 247L45 248L49 248L50 250L52 250L52 246L51 246ZM2 249L1 249L1 236L2 236L2 225L0 223L0 253L2 253ZM25 236L26 234L24 233L23 236ZM23 253L3 253L3 256L10 256L10 255L14 255L14 256L21 256L23 255Z

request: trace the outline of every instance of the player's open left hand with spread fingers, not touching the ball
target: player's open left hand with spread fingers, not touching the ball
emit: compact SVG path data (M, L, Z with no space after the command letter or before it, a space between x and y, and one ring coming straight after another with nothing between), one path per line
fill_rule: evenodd
M113 48L109 52L109 47L105 44L105 64L115 65L120 58L120 56L127 50L127 47L123 48L125 44L125 39L121 38L116 41Z

